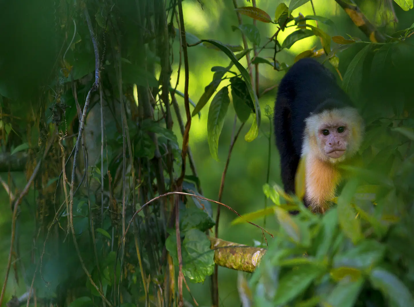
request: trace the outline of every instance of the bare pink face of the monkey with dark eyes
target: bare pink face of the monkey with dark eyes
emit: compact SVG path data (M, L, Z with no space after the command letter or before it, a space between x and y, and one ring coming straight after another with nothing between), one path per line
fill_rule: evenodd
M321 147L325 154L333 159L344 155L348 145L349 130L345 125L324 126L318 132Z

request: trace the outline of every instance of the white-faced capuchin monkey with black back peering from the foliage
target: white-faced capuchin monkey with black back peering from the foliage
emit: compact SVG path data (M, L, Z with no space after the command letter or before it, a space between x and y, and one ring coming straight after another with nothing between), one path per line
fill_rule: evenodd
M364 123L335 76L313 58L298 60L280 82L274 132L286 193L295 193L299 159L305 159L303 202L323 213L340 181L338 164L361 145Z

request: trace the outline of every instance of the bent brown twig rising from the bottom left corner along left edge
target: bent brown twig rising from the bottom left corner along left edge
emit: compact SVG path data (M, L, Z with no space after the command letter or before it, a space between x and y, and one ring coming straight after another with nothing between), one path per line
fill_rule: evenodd
M33 173L31 174L31 176L29 178L29 181L27 181L27 184L24 187L22 193L20 193L19 198L17 198L17 200L14 202L13 214L12 214L12 234L11 234L11 238L10 238L10 251L9 251L9 258L7 260L6 276L4 278L3 288L2 288L2 291L1 291L1 295L0 295L0 306L2 306L4 294L5 294L5 291L6 291L7 279L9 278L10 266L11 266L11 263L12 263L14 237L15 237L15 232L16 232L17 208L19 208L19 205L22 202L23 197L26 196L27 193L29 193L29 188L30 188L31 184L33 183L33 180L36 177L37 173L39 172L41 163L44 160L44 158L46 157L46 155L48 154L49 149L51 148L51 145L53 144L53 142L55 140L55 137L56 137L56 134L53 133L53 135L51 137L51 140L49 140L49 143L46 145L46 149L43 152L43 156L37 162L37 165L36 165Z

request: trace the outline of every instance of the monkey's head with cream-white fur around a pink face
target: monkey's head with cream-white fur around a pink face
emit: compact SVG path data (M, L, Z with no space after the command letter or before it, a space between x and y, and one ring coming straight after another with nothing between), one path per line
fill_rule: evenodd
M359 150L363 131L363 120L352 107L314 112L305 120L303 152L322 161L342 162Z

